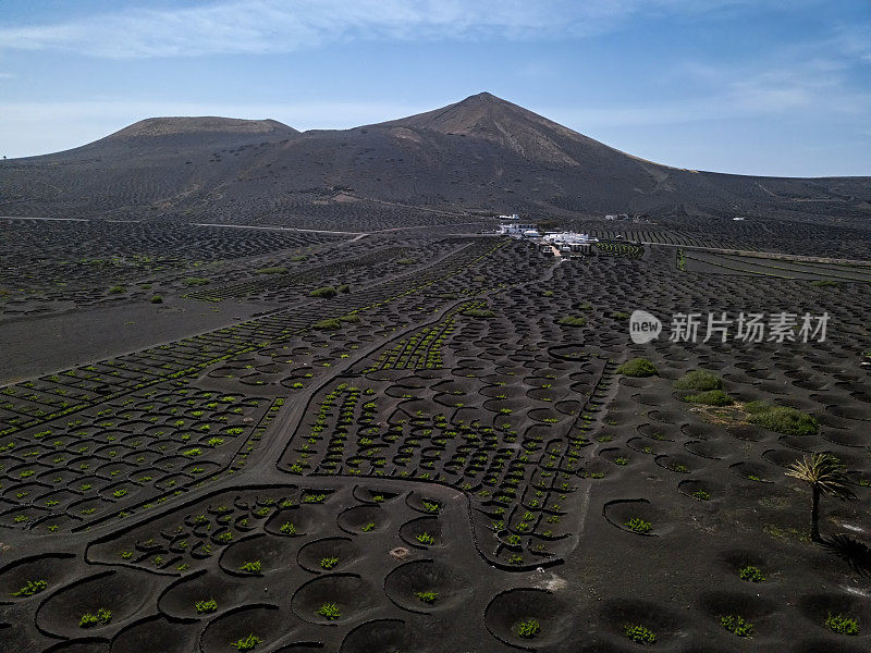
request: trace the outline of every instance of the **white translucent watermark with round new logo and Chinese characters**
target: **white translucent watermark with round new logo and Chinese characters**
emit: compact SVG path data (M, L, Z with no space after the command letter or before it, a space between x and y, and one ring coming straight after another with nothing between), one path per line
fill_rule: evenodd
M679 312L672 316L668 342L823 343L827 325L827 312ZM635 344L654 341L661 332L662 322L657 316L646 310L633 311L629 317L629 337Z

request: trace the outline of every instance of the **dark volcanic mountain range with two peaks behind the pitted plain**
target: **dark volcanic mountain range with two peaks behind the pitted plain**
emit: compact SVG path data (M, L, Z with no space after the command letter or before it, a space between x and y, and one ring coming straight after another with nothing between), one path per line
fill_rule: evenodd
M7 214L290 219L347 202L530 215L863 220L871 178L755 177L638 159L487 93L344 131L158 118L0 164ZM322 210L322 209L318 209Z

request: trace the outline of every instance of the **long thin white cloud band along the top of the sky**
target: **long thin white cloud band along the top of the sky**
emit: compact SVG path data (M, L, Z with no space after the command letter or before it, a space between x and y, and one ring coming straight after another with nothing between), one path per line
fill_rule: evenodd
M782 0L766 0L780 5ZM758 2L757 2L758 3ZM223 0L0 27L0 49L111 59L290 52L349 39L587 36L638 15L699 13L751 0Z

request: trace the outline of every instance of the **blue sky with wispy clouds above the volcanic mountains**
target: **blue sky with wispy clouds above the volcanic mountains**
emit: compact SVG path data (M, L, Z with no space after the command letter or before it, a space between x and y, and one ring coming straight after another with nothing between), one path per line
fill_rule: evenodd
M335 128L488 90L679 168L871 175L867 0L0 0L0 153L154 115Z

